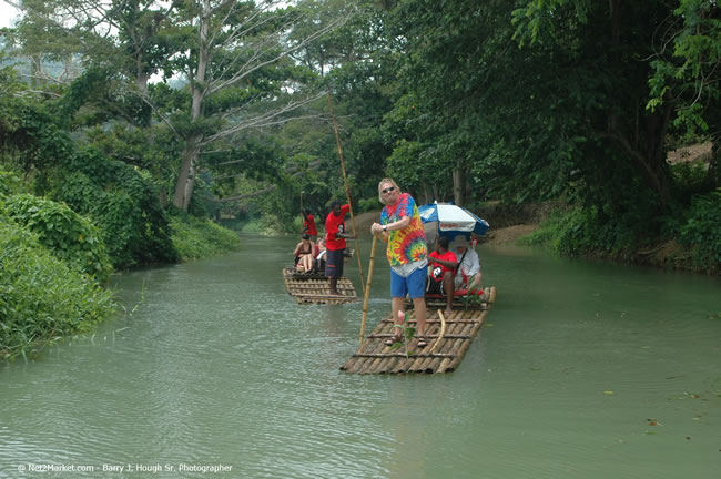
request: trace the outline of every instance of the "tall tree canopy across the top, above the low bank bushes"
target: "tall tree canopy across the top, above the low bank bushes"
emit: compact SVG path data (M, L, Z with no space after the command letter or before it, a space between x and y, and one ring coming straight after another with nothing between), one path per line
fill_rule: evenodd
M392 175L420 201L560 198L658 230L719 185L715 1L287 3L27 1L12 94L54 99L58 134L184 211L288 223L343 196L327 94L367 205ZM691 184L667 153L703 141Z

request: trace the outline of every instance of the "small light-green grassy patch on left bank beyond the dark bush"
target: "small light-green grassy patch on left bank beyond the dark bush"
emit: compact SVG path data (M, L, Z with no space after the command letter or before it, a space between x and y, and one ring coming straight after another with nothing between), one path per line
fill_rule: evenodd
M240 246L237 233L210 220L174 215L170 226L173 245L182 259L213 256Z

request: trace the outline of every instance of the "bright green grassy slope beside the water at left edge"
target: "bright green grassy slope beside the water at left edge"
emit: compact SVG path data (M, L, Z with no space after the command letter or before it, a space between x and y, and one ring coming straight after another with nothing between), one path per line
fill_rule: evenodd
M69 268L38 236L0 216L0 359L83 333L116 310L109 292Z

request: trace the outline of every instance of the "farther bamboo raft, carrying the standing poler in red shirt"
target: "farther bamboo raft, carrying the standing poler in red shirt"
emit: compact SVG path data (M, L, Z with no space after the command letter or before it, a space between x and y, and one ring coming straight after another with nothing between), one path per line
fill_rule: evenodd
M288 294L298 304L345 304L358 300L353 283L346 276L338 278L338 293L331 295L328 278L318 274L297 273L293 267L283 268L283 282Z

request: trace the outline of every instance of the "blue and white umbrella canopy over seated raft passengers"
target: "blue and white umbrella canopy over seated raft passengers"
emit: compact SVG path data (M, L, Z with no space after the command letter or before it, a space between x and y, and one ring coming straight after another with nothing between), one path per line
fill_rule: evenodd
M470 237L471 233L484 235L490 226L486 220L479 218L465 207L449 203L425 204L418 207L418 213L426 233L433 233L435 230L436 234L451 240L459 234L466 237Z

